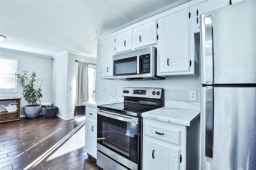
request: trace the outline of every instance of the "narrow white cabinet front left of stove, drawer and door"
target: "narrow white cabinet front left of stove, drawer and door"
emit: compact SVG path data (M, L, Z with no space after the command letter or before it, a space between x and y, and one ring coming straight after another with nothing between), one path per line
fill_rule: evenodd
M86 106L88 107L88 106ZM97 158L97 113L95 107L86 108L85 115L85 149Z

